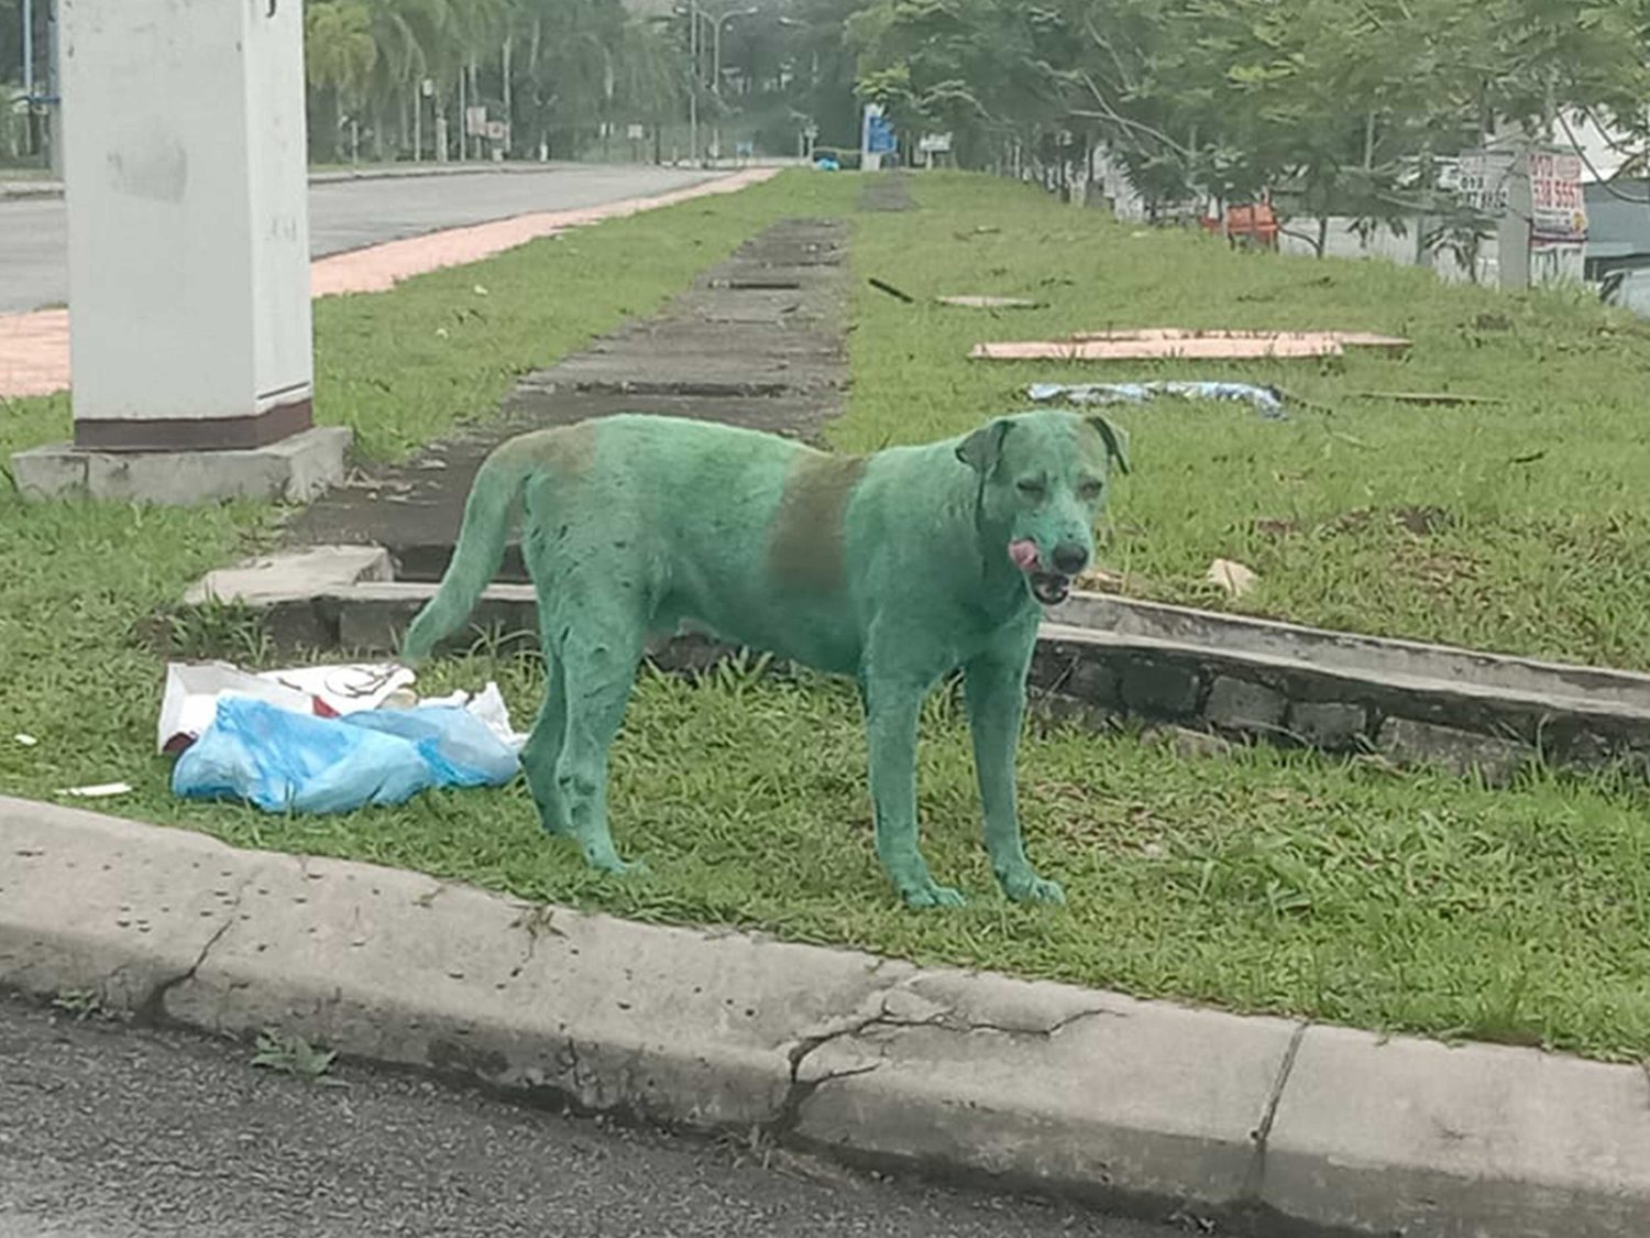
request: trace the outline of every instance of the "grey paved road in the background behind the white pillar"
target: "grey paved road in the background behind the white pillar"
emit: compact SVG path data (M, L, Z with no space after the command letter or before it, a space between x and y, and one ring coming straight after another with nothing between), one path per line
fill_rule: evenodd
M335 254L526 211L596 206L685 188L705 172L554 165L548 172L477 172L310 185L310 253ZM0 314L69 299L68 223L59 198L0 201Z

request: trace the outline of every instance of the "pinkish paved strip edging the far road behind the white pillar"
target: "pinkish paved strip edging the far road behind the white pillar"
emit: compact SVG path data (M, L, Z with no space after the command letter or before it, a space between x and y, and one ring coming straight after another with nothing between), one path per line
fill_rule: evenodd
M485 168L459 165L452 172L480 170ZM535 170L543 168L535 165ZM733 193L777 173L776 167L746 168L647 198L624 198L564 211L535 211L328 254L310 264L310 287L317 297L342 292L383 292L411 276L477 262L568 228L672 206L705 195ZM350 178L350 173L342 178ZM45 396L68 386L69 312L45 309L28 314L0 314L0 399Z

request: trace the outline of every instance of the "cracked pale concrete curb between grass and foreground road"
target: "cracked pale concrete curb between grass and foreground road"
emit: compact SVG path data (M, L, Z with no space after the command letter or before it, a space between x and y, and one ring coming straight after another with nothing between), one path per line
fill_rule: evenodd
M0 985L1269 1235L1650 1233L1638 1068L653 928L5 797Z

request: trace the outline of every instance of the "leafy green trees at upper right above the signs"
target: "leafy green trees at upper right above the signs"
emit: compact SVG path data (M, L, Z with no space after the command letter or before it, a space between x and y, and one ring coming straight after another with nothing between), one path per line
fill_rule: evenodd
M965 163L1104 144L1148 200L1439 208L1439 160L1577 117L1642 147L1647 0L868 0L858 89Z

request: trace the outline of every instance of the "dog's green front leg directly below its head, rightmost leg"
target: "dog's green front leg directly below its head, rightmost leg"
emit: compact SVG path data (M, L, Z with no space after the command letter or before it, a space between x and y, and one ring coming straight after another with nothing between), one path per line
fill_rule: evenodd
M1035 639L1035 629L1033 629ZM1025 644L1021 654L1020 644ZM964 697L969 730L974 735L974 766L980 779L980 807L985 815L985 850L992 857L1003 893L1016 903L1064 903L1058 881L1038 877L1026 860L1020 839L1020 807L1015 787L1015 754L1025 716L1030 642L992 650L964 669Z

